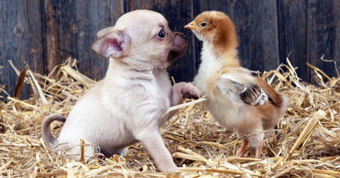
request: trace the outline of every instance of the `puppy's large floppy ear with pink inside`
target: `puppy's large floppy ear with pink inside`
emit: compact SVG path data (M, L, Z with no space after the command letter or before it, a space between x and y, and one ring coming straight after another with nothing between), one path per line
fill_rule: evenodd
M121 31L110 32L93 43L91 49L103 57L121 57L131 45L130 36Z

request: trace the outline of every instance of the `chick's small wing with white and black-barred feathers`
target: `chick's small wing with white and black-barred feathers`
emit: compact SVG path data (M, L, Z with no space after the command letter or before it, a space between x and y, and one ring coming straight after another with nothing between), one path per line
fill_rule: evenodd
M229 72L220 76L217 88L227 95L237 94L249 105L263 105L268 95L256 84L253 76L245 72Z

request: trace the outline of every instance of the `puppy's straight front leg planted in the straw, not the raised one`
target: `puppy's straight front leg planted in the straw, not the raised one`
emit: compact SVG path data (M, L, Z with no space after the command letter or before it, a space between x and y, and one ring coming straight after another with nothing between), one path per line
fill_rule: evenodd
M165 146L158 130L144 130L137 138L146 151L152 156L153 161L161 172L177 172L178 168Z

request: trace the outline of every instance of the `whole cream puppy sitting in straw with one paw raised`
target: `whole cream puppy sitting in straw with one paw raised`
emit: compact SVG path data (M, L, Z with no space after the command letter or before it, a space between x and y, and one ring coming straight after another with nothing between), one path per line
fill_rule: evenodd
M128 146L141 142L160 171L175 172L159 132L174 112L161 118L185 98L198 99L201 92L191 84L172 86L166 68L187 48L183 34L172 32L159 13L136 10L121 16L114 27L97 33L91 49L110 62L104 79L75 104L68 118L50 115L42 124L42 137L53 149L70 148L80 159L80 139L100 148L105 157L126 155ZM51 122L65 122L56 140ZM68 143L68 146L65 146ZM85 160L95 154L86 146Z

